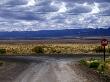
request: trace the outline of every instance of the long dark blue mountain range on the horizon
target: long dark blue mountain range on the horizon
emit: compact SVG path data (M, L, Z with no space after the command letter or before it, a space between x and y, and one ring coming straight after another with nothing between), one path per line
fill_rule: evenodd
M2 39L32 40L46 38L90 37L90 36L110 36L110 28L0 32L1 40Z

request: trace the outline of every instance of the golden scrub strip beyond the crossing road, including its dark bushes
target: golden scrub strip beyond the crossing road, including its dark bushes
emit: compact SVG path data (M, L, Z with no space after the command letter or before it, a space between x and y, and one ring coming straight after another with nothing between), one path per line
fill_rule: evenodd
M1 43L0 54L30 55L33 53L44 54L82 54L102 53L102 47L98 43L34 43L13 42ZM108 46L107 52L110 53Z

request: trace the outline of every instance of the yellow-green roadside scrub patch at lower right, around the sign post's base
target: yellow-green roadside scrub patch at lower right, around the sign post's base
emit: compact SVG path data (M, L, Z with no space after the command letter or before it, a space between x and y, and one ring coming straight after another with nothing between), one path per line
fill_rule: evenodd
M110 77L110 58L106 58L105 62L102 59L91 58L81 60L80 63L88 68L93 68L102 75L107 75L107 77Z

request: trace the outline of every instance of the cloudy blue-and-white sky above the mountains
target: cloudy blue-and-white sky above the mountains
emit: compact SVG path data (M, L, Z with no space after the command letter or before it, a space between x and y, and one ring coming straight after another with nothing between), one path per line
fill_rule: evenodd
M109 27L110 0L0 0L0 31Z

